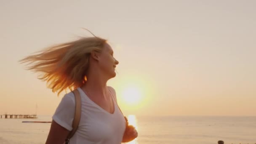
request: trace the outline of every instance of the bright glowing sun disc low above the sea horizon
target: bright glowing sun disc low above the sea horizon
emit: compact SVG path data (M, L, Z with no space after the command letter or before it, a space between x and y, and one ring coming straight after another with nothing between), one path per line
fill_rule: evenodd
M141 100L141 91L136 87L127 87L122 93L123 99L128 104L138 104Z

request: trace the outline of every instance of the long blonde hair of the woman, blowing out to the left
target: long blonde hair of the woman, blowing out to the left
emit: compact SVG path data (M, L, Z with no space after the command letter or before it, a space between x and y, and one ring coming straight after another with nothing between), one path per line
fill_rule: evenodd
M43 73L38 79L47 81L47 87L59 96L61 91L72 91L85 83L91 52L101 52L104 43L107 40L100 37L81 37L45 48L20 62L28 63L28 70Z

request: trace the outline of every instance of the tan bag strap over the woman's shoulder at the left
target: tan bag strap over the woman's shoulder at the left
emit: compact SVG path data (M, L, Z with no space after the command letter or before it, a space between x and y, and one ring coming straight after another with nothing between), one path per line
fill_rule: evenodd
M74 120L72 123L72 131L69 132L69 135L67 136L66 140L65 140L65 144L69 143L69 139L72 138L72 136L74 136L75 132L77 131L79 122L80 122L80 118L81 118L81 96L79 91L76 89L75 91L72 91L72 93L74 93L75 95L75 115L74 115Z

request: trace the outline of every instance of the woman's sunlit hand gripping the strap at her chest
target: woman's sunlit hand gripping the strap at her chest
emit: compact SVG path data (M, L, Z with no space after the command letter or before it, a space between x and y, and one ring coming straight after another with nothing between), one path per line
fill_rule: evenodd
M133 127L133 125L127 125L125 129L125 133L123 135L123 141L122 142L129 142L135 139L138 136L138 132Z

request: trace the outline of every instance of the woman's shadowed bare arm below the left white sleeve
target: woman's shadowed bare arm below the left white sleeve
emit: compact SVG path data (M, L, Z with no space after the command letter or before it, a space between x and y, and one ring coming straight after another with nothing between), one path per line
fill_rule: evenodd
M69 132L53 120L45 144L63 144Z

